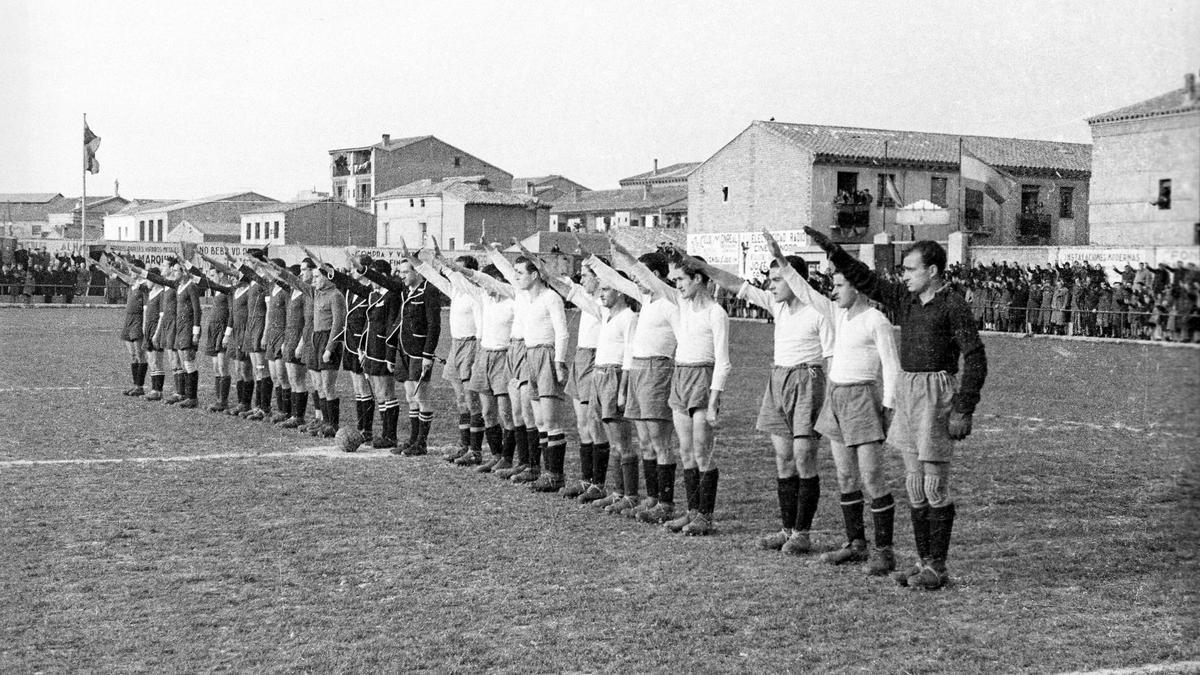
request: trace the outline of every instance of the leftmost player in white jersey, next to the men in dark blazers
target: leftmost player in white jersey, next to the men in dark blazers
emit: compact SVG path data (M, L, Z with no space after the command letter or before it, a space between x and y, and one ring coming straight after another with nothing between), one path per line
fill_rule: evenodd
M433 239L434 261L442 257L437 239ZM478 270L479 261L460 256L456 261L466 269ZM479 301L461 283L444 276L428 262L420 262L416 271L443 295L450 298L450 354L446 357L442 377L454 389L458 406L458 444L442 459L461 466L480 465L484 461L484 416L479 395L468 389L470 374L479 348Z

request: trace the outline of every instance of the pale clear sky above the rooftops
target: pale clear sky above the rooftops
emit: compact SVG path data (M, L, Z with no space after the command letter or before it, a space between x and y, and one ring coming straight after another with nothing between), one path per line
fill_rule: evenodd
M590 189L756 119L1088 143L1200 71L1200 1L0 0L0 192L330 190L433 135Z

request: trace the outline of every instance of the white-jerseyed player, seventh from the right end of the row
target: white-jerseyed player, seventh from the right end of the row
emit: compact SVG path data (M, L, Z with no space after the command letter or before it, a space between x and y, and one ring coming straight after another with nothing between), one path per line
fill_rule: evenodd
M580 325L576 330L575 358L570 364L566 377L565 392L571 398L575 407L575 425L580 435L580 480L570 483L559 490L564 498L575 500L588 491L595 484L593 468L595 467L595 455L598 453L608 455L608 442L604 434L604 424L600 417L592 413L589 402L593 395L593 375L595 371L596 342L600 335L604 307L599 301L600 280L592 269L583 267L580 270L580 282L575 283L566 276L556 274L544 261L533 255L520 243L522 255L538 268L541 277L564 300L581 307ZM595 311L584 311L581 303L588 304ZM607 461L607 459L605 460ZM605 464L607 468L607 464ZM604 484L604 476L600 477ZM599 495L599 496L602 496ZM599 496L593 498L599 498ZM589 500L590 501L590 500Z

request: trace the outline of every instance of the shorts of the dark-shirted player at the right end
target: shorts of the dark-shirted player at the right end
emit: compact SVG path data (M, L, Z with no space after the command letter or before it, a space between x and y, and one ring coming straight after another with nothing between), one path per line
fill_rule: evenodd
M950 461L950 401L959 386L946 371L900 372L888 443L922 461Z

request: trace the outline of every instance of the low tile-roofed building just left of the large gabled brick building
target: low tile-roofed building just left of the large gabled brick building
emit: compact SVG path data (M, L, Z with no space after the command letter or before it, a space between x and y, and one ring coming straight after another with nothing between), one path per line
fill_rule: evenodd
M578 192L554 202L556 232L606 232L613 227L688 227L686 187L623 187Z

